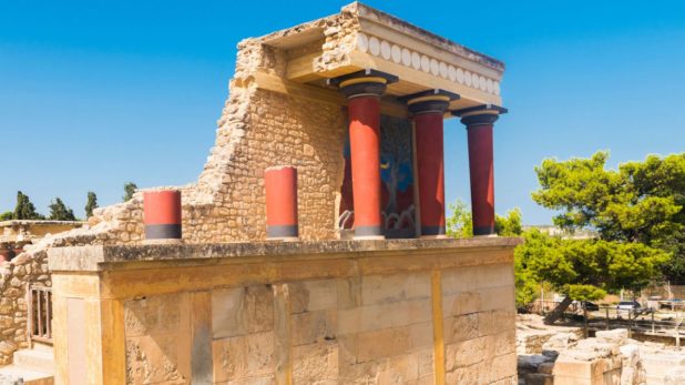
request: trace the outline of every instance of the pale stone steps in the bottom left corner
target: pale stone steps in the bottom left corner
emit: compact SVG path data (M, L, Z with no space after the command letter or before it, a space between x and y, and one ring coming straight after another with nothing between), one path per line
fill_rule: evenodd
M52 385L53 378L52 346L39 343L14 352L12 365L0 367L0 385Z

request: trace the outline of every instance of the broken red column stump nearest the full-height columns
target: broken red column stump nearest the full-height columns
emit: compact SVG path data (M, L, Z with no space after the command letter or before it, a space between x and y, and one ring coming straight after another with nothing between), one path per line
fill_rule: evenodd
M298 236L297 169L289 165L268 168L266 185L266 237L293 241Z

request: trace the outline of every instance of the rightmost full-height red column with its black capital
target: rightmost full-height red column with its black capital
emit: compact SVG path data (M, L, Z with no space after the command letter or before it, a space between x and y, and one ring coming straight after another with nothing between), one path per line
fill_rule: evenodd
M469 135L473 235L495 235L492 128L499 113L503 112L507 110L490 105L456 112L461 116Z

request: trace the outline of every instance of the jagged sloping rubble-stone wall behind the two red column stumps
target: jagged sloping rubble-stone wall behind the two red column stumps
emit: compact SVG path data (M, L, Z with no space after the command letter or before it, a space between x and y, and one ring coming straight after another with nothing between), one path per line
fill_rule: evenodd
M324 40L313 44L323 55L316 65L339 65L355 36L350 12L298 27L320 28ZM336 239L337 204L343 184L347 114L330 101L257 88L255 74L285 78L288 55L297 52L262 43L293 30L247 39L238 44L235 75L217 122L216 142L196 183L182 186L183 239L187 243L260 240L266 234L264 169L288 164L298 169L300 236ZM347 48L346 48L347 47ZM111 224L112 243L143 239L142 194L110 207L98 209L91 225Z

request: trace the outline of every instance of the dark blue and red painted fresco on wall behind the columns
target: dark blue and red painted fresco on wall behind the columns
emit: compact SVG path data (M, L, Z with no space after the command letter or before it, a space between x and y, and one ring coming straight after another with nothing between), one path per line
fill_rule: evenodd
M411 123L406 119L380 119L381 207L386 237L415 237L413 164ZM340 190L340 229L352 229L354 196L349 138L344 149L345 179Z

